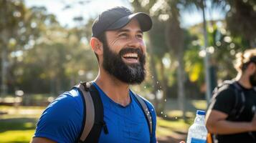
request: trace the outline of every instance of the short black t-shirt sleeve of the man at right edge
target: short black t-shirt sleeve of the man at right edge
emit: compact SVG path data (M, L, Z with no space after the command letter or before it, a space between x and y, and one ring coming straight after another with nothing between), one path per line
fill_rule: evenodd
M234 107L234 90L230 88L222 89L216 97L212 100L209 109L215 109L219 112L229 114Z

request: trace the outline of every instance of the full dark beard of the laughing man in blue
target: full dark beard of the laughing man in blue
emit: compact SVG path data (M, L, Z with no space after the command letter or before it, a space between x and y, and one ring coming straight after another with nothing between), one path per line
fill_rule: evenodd
M137 53L138 64L125 64L122 59L123 54ZM141 84L146 77L144 65L146 63L145 55L141 49L124 48L118 54L110 50L108 44L103 42L103 68L110 75L127 84Z

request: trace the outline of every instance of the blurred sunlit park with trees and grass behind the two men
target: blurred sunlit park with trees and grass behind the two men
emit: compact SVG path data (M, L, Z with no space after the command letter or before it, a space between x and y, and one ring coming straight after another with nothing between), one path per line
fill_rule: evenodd
M113 6L153 19L148 77L131 88L154 104L158 142L186 139L235 54L256 47L255 0L1 0L0 142L29 142L49 102L96 77L91 25Z

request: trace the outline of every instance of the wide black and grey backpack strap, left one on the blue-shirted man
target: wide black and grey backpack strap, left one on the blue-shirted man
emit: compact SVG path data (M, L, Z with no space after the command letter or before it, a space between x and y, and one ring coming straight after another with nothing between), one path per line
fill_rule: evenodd
M80 82L78 87L85 100L85 122L82 123L78 142L98 142L102 129L108 134L108 128L103 120L103 103L100 94L91 82Z

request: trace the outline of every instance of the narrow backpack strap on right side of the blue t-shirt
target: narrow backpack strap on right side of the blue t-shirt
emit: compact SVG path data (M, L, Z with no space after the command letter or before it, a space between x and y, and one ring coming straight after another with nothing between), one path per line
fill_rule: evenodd
M131 90L131 92L133 92ZM148 128L149 128L149 132L150 132L150 137L152 136L152 127L153 127L153 122L152 122L152 116L151 113L149 112L148 106L146 105L146 103L143 100L143 97L141 97L140 95L136 94L135 92L133 92L133 95L136 97L138 103L141 105L141 108L143 110L143 113L147 119L148 122Z

